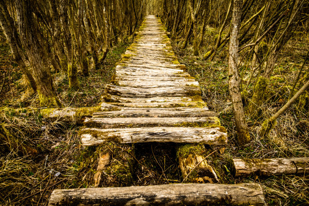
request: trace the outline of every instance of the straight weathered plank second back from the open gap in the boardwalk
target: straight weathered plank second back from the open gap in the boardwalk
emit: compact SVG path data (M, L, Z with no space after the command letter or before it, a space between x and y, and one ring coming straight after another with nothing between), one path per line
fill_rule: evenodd
M220 121L217 117L86 118L84 125L97 128L214 127L220 125Z

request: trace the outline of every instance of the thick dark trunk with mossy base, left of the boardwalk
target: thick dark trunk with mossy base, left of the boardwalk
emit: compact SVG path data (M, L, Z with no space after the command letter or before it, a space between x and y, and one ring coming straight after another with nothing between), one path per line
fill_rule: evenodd
M18 26L21 39L29 57L29 62L33 68L34 79L37 82L37 92L41 106L60 106L53 88L53 80L50 75L44 48L39 42L38 25L33 19L30 2L22 0L16 1L18 16Z

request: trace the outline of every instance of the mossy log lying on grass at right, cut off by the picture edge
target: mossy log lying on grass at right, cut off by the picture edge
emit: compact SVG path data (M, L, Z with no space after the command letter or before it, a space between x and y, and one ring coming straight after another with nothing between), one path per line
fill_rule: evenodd
M309 158L233 159L235 177L309 174Z

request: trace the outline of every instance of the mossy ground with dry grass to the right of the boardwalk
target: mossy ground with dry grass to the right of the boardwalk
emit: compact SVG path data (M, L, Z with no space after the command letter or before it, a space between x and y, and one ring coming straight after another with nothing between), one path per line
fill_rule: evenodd
M298 101L277 120L277 125L269 137L262 139L258 133L263 119L271 117L286 102L298 69L305 58L307 41L304 35L295 35L280 54L274 77L270 82L268 99L262 105L262 115L258 120L247 117L251 142L244 147L237 144L235 120L228 91L228 64L226 50L214 62L193 57L192 47L181 49L181 43L172 42L173 49L181 64L187 66L187 72L199 81L202 97L210 110L218 113L221 124L228 131L228 146L223 155L216 154L217 171L221 182L235 184L258 182L262 185L268 205L307 205L309 204L309 179L307 176L281 175L271 177L235 179L224 168L229 168L231 158L289 158L309 156L309 113L308 105ZM205 45L209 45L208 39ZM305 65L304 72L308 70ZM249 74L249 71L247 72ZM303 75L302 75L303 76ZM246 82L243 82L245 86ZM299 86L298 86L299 88ZM297 88L296 88L297 89ZM295 89L295 90L296 90ZM248 104L252 87L244 95ZM294 91L296 92L296 91ZM305 101L306 102L306 101Z

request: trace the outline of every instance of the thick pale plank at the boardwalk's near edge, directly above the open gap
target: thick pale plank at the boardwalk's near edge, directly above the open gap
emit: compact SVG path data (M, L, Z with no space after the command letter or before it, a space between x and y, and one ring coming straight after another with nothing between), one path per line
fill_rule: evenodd
M225 145L226 130L223 127L140 127L95 129L86 128L80 131L81 142L85 146L100 144L106 141L121 143L137 142L180 142Z

